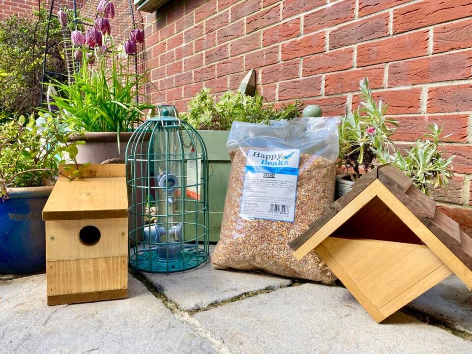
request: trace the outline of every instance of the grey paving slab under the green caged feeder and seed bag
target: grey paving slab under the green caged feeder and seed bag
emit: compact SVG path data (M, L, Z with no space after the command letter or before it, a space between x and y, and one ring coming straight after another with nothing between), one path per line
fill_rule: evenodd
M239 295L289 286L292 280L261 273L214 269L210 263L183 273L142 273L184 311L206 308Z

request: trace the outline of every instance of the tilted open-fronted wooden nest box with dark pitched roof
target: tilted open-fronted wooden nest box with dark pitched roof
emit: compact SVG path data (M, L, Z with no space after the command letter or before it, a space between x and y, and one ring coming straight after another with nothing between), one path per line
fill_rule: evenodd
M472 288L472 238L392 165L378 167L290 243L312 250L381 322L455 273Z

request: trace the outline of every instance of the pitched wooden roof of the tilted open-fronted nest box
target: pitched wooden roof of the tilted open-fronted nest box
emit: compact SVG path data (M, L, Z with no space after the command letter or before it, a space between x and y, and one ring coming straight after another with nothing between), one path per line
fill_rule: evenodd
M303 258L375 197L472 288L472 238L392 165L379 166L356 181L349 193L336 200L305 233L290 242L295 258Z

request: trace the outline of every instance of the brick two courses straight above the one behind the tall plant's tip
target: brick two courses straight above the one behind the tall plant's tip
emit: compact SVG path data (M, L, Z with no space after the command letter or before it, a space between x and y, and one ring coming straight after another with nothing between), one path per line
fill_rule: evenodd
M380 14L329 32L329 49L336 49L388 35L388 14Z

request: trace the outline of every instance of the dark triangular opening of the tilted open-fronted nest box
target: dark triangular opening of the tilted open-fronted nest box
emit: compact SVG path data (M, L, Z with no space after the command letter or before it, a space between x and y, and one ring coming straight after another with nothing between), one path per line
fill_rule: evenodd
M423 244L419 237L378 197L358 210L331 236Z

